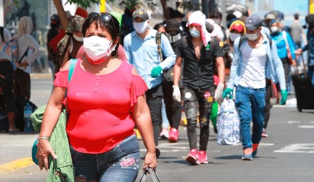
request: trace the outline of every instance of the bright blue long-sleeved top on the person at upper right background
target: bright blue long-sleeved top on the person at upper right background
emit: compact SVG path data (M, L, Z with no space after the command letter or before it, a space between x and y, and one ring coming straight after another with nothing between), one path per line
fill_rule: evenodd
M295 59L295 46L294 46L294 42L290 36L290 34L288 32L286 32L286 35L287 35L287 41L288 41L288 44L289 44L289 48L290 48L290 52L291 52L291 55L292 55L292 59ZM287 48L286 48L286 41L285 41L285 38L284 38L284 35L283 35L283 31L280 32L279 34L278 33L275 33L275 34L271 34L270 35L270 38L276 42L276 46L277 46L277 52L278 52L278 56L279 58L285 58L287 57Z

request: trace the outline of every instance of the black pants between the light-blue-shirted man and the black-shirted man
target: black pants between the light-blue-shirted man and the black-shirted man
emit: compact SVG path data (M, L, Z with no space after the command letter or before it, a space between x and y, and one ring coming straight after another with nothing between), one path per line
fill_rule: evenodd
M163 100L166 105L167 118L171 128L178 129L181 121L182 106L178 101L173 100L173 82L163 81Z

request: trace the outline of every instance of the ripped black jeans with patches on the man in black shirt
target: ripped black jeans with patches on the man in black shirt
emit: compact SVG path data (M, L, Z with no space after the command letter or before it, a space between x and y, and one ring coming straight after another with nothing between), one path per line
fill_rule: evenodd
M190 149L197 147L197 111L199 110L200 123L200 151L207 150L209 139L209 118L213 103L215 86L206 89L183 88L183 104L187 120L187 137Z

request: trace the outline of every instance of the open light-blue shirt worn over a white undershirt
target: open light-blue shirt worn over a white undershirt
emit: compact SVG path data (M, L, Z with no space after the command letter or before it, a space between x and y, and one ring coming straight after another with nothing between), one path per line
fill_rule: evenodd
M277 53L277 47L274 41L272 42L272 45L270 47L269 40L266 36L266 34L262 33L262 36L264 38L263 46L266 48L267 52L267 62L265 67L265 76L268 79L271 79L274 83L280 83L281 90L286 90L286 79L285 79L285 70L283 63L281 59L278 56ZM242 64L242 57L241 57L241 49L243 49L244 45L247 43L247 39L245 38L243 40L243 43L241 44L241 47L239 49L239 42L240 37L235 39L234 43L234 58L231 64L230 68L230 78L228 87L230 89L233 89L234 86L237 86L239 83L239 79L241 76L241 67L239 66Z

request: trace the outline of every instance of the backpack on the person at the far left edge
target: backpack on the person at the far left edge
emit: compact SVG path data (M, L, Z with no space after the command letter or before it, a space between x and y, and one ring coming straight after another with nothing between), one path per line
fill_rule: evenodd
M3 27L0 27L0 34L2 38L2 43L0 45L0 51L5 52L12 63L13 70L16 70L18 66L17 62L17 55L18 55L18 44L17 44L17 38L12 38L11 40L4 41L3 37Z

